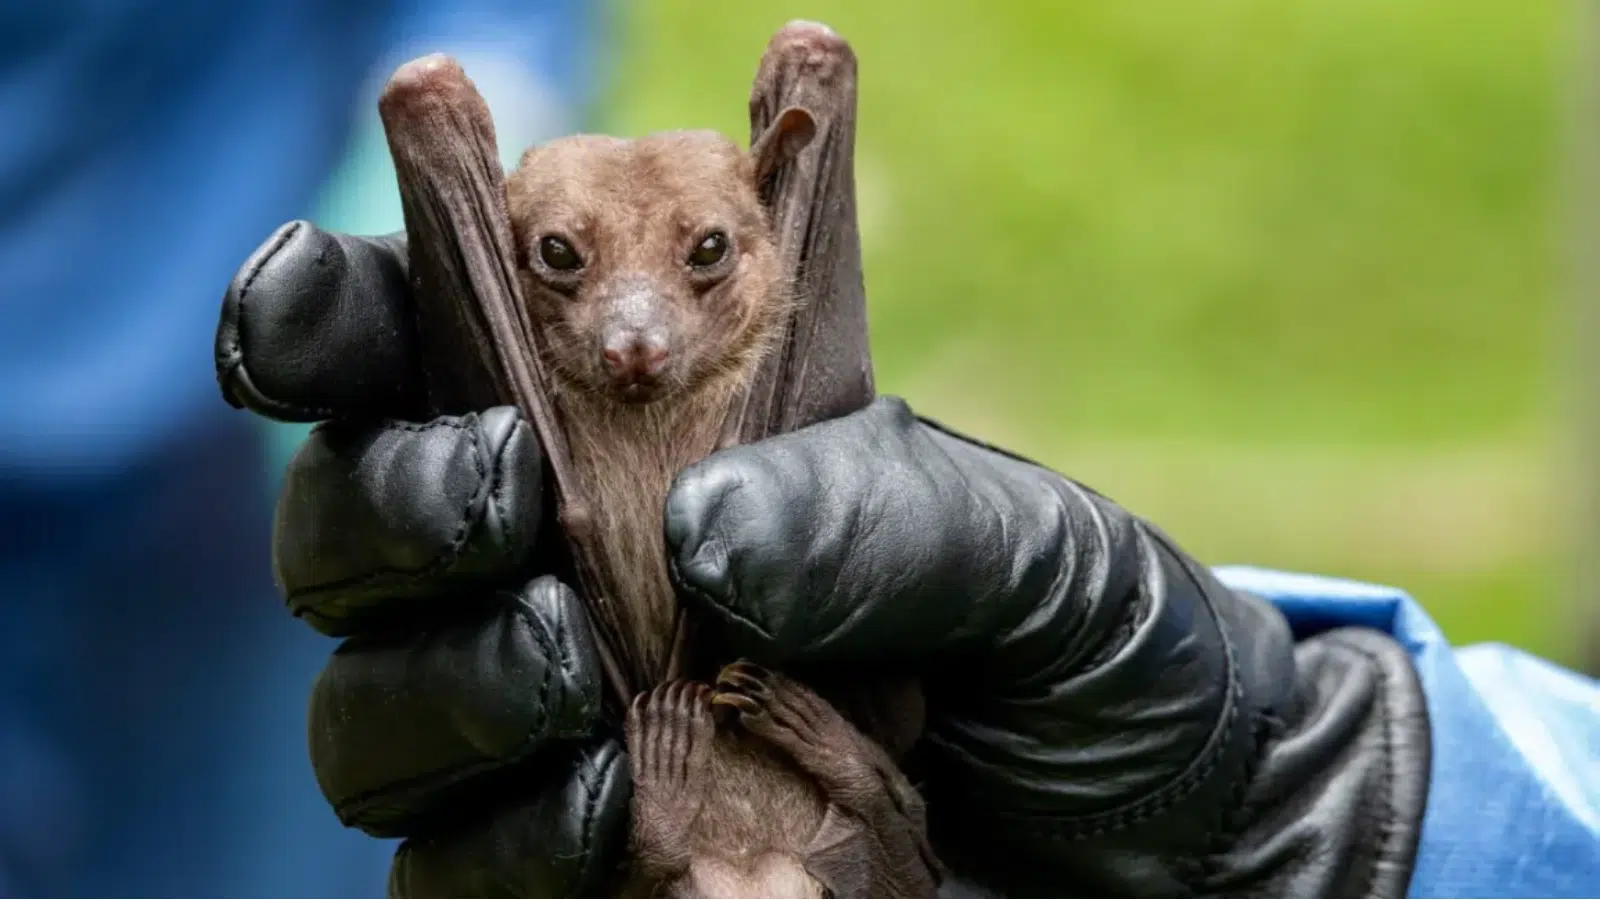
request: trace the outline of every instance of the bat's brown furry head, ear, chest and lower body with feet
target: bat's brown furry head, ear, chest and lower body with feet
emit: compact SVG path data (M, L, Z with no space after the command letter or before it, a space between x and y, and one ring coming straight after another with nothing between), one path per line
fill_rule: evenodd
M552 399L600 552L595 615L624 644L618 655L632 684L661 682L672 649L667 490L715 448L730 404L790 309L757 187L810 139L810 117L798 115L781 115L774 139L752 154L709 131L574 136L528 151L507 178L523 295L547 348ZM795 128L805 133L797 138ZM712 231L728 235L728 256L690 266ZM550 235L576 251L579 269L541 263ZM643 402L622 394L603 364L606 335L622 320L669 349ZM760 669L730 671L715 693L670 682L642 693L629 713L635 889L931 892L936 863L920 801L882 749L808 689ZM720 725L714 697L733 709ZM806 724L795 730L784 721Z

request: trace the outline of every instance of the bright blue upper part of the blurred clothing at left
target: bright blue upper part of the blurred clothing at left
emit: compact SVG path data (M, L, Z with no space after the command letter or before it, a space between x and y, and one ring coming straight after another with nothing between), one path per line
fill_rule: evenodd
M496 50L571 107L590 19L581 0L0 3L0 471L115 471L221 415L222 288L310 213L374 67Z

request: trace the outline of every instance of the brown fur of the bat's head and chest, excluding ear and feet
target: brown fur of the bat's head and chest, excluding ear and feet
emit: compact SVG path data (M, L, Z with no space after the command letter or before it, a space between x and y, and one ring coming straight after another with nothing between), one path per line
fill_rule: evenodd
M632 644L619 649L629 681L653 684L677 609L661 509L674 476L715 448L730 400L771 349L790 304L782 261L750 159L710 131L560 139L528 151L506 191L523 293L549 348L555 405L605 557L597 569L610 583L597 613ZM691 283L683 258L712 227L730 235L738 258L717 283ZM584 258L574 290L533 271L546 234ZM627 293L646 293L672 330L664 394L646 404L619 402L600 370L600 301Z

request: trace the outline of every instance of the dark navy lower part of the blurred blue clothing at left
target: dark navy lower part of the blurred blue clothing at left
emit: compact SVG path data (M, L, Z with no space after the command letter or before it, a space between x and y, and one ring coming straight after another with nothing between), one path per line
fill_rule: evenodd
M77 492L0 480L0 895L378 897L317 790L334 642L269 578L259 429L174 434Z

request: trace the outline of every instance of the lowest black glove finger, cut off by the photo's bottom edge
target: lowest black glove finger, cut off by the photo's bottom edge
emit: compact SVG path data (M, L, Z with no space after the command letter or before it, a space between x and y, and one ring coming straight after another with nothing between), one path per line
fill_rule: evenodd
M616 897L627 849L627 756L584 748L531 799L403 842L390 897Z

